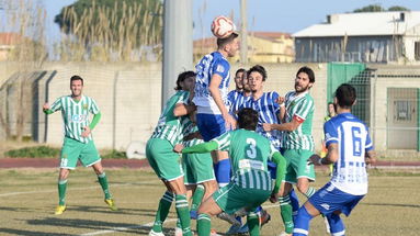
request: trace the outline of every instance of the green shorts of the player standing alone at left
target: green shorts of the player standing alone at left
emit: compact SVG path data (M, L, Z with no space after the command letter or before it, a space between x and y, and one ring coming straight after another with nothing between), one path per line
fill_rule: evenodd
M78 160L84 167L89 167L101 161L101 157L93 141L82 143L65 137L60 154L60 168L75 169Z

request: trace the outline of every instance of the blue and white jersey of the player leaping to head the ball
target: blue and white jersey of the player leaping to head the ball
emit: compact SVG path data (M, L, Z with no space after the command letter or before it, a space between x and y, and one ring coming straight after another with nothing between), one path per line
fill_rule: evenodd
M195 77L195 93L193 102L197 105L197 113L222 114L212 94L209 93L208 87L212 76L215 74L219 75L222 77L219 86L222 100L225 104L227 104L227 93L230 82L229 63L219 52L214 52L205 55L195 66L195 69L197 75Z

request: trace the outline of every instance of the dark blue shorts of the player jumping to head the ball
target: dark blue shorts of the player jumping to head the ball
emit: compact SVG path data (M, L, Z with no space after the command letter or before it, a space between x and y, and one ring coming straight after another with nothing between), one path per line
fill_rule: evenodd
M197 114L197 127L205 142L226 133L225 120L222 115Z

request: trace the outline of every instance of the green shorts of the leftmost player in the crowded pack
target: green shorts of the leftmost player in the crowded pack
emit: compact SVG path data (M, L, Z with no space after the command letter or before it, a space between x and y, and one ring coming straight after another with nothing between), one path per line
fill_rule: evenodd
M146 144L146 158L160 179L171 181L184 176L180 155L167 139L150 138Z

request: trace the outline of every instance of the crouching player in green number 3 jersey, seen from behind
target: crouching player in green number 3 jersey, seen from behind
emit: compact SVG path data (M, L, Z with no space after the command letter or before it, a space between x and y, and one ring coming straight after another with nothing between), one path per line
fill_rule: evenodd
M220 212L234 214L245 209L251 236L259 235L259 218L254 210L265 202L270 194L281 188L285 171L285 160L270 141L256 133L258 112L242 109L238 114L239 130L227 132L211 142L184 148L182 153L206 153L215 149L229 151L234 177L205 200L198 209L197 231L200 236L208 236L211 216ZM274 190L268 170L268 160L277 164L277 178ZM247 196L247 198L245 198Z

